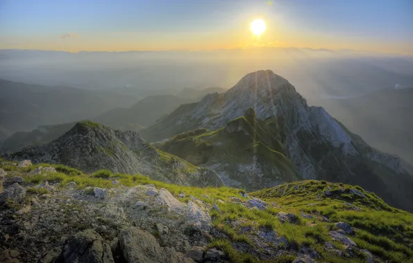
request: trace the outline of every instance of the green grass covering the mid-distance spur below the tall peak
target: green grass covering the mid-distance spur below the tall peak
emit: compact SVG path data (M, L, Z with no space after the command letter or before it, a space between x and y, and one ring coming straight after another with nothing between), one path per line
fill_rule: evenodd
M271 131L273 125L246 116L232 120L229 125L239 125L243 131L228 133L226 128L216 131L197 129L178 134L157 147L194 165L229 164L226 168L229 174L236 174L238 164L250 164L253 156L256 156L265 177L280 177L272 169L276 167L281 170L283 181L300 179L294 165L283 154L285 150L277 140L276 133ZM249 184L248 178L237 178L237 181Z

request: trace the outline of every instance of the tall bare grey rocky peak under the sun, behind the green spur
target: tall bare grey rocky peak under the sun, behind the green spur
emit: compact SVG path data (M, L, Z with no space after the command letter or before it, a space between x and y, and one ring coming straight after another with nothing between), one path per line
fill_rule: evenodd
M250 73L226 93L182 105L141 135L157 141L192 129L218 130L249 107L258 120L272 123L285 156L303 179L362 185L395 206L413 209L413 194L407 186L413 177L398 158L369 147L322 107L308 107L295 87L272 71ZM225 147L225 141L215 143Z

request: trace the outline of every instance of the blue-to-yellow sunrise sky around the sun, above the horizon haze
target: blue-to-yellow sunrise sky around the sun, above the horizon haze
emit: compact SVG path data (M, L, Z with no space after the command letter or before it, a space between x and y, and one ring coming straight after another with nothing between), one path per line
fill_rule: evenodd
M255 37L254 19L267 30ZM413 54L412 0L0 0L0 48L351 48Z

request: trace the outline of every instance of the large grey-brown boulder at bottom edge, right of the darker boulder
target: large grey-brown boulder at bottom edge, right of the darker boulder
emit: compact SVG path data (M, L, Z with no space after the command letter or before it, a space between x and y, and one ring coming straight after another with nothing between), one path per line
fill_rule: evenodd
M175 248L162 248L157 239L146 230L136 227L122 230L119 242L123 258L128 263L178 263L182 261L182 257L179 257Z

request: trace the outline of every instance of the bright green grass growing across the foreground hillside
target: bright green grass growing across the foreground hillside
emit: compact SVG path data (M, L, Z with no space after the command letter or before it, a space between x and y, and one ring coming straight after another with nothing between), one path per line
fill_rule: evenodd
M39 164L49 166L49 164ZM286 183L275 188L250 193L268 204L267 210L249 210L241 203L229 203L229 197L239 197L240 200L247 199L240 196L239 190L235 188L195 188L180 185L172 185L159 181L152 181L146 176L139 174L112 174L102 170L94 174L84 174L79 170L53 165L58 170L55 174L29 174L38 165L20 170L14 163L3 161L0 165L8 170L8 175L30 175L24 176L25 183L41 183L43 179L49 182L59 182L64 187L67 183L74 181L78 188L98 186L101 188L112 188L112 179L118 180L122 185L133 186L141 184L153 184L157 188L166 188L176 197L180 193L186 195L180 199L187 202L190 195L197 197L209 205L216 203L220 211L211 210L213 227L221 233L222 238L213 238L209 247L218 246L225 250L231 258L231 262L263 262L260 257L260 247L254 242L254 231L259 229L276 230L280 236L288 239L289 246L279 251L276 258L270 262L292 262L295 255L293 251L299 248L313 248L322 259L319 262L364 262L362 253L356 253L354 257L338 257L330 251L326 251L323 242L331 242L341 251L345 251L342 244L333 241L329 231L335 229L333 223L320 221L317 217L325 216L331 222L346 221L355 228L355 235L351 237L359 248L371 251L375 256L391 262L412 262L413 250L409 244L413 243L413 215L403 210L387 206L376 194L368 193L358 186L327 183L326 181L300 181ZM322 192L329 188L333 193L331 197L325 197ZM354 188L364 193L367 198L362 199L354 194L349 194L349 189ZM90 188L91 189L91 188ZM344 192L342 192L344 190ZM30 188L28 194L43 194L37 188ZM207 194L209 197L206 197ZM225 203L217 202L218 199ZM358 210L351 210L344 203L351 203ZM376 210L378 209L378 210ZM297 224L281 223L274 215L277 212L306 212L313 215L313 219L299 217ZM245 233L243 229L250 230ZM240 244L243 244L240 246ZM411 245L410 245L411 246ZM243 249L239 249L242 247ZM276 248L274 248L276 250Z

